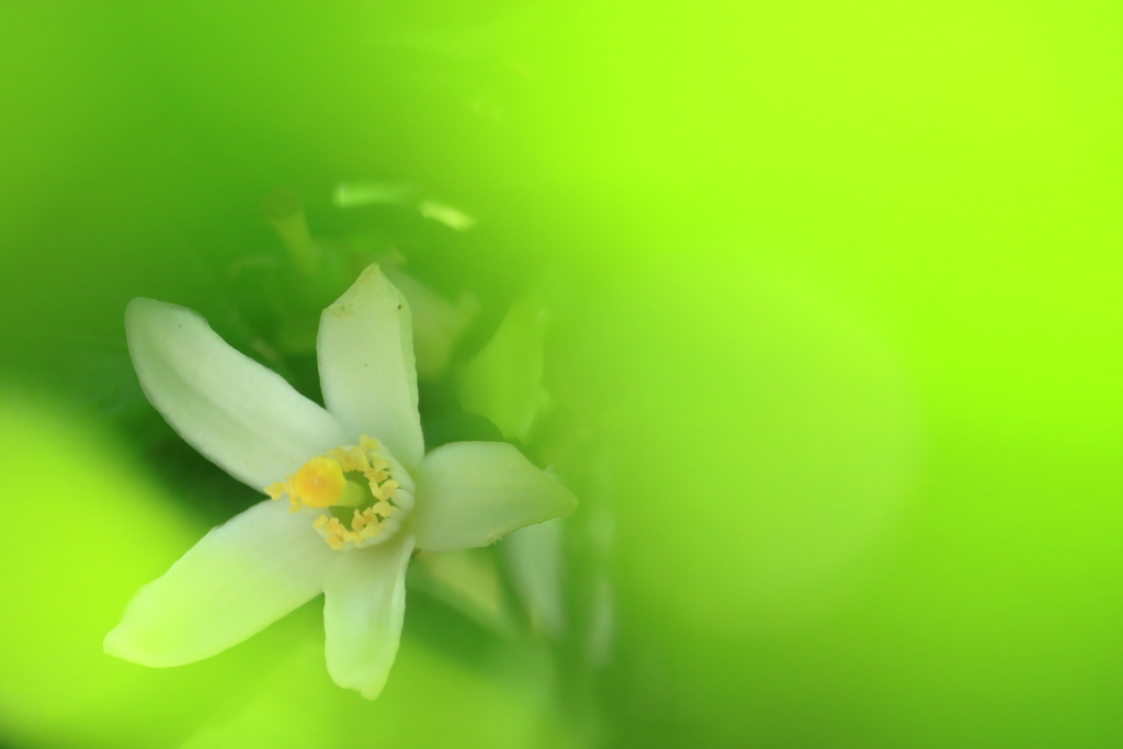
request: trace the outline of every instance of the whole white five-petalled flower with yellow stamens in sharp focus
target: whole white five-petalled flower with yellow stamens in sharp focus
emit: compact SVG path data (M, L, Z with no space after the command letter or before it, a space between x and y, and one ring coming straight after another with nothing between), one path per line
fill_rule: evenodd
M136 299L126 328L153 405L274 500L214 528L140 588L106 636L110 655L193 663L322 592L328 672L373 700L398 651L414 548L486 546L576 506L510 445L454 442L426 455L409 307L376 265L320 319L327 409L191 310Z

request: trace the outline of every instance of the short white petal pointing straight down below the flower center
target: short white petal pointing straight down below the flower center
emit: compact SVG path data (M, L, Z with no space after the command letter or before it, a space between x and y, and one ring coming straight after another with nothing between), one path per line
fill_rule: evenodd
M398 655L405 614L405 568L413 537L341 551L323 582L328 673L336 684L374 700Z

